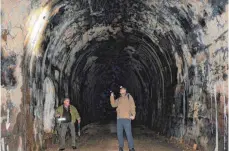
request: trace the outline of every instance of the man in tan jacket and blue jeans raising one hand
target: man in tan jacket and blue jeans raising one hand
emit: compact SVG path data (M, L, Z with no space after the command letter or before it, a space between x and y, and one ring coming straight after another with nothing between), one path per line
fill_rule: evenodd
M123 151L124 139L123 130L126 132L129 151L134 151L134 141L131 130L131 120L135 119L136 110L133 97L126 93L125 87L120 87L121 96L115 100L114 93L111 93L111 106L117 111L117 136L119 142L119 151Z

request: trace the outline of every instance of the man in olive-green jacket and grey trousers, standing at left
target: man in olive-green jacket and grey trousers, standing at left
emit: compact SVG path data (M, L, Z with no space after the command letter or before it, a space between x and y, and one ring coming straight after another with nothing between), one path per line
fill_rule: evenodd
M62 119L61 129L60 129L60 149L65 149L65 136L68 127L71 131L72 136L72 148L76 149L76 131L75 131L75 122L76 120L80 123L80 115L77 109L70 105L70 99L65 98L64 104L59 106L56 109L56 117L60 117Z

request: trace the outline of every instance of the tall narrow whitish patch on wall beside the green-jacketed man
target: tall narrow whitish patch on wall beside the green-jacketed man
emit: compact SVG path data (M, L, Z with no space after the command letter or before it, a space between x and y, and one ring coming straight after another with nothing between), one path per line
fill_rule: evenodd
M46 77L44 80L44 112L43 112L43 125L44 132L50 133L54 126L54 113L55 113L55 100L56 91L55 85L51 78Z

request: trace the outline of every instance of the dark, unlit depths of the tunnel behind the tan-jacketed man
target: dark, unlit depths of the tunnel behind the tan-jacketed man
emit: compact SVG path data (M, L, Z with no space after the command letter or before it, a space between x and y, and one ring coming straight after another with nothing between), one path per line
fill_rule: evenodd
M174 100L168 96L174 96L176 66L168 64L166 58L163 60L163 54L158 52L159 49L152 42L148 43L149 39L145 37L141 34L126 34L117 39L111 37L103 42L92 41L82 53L75 55L76 61L69 77L66 78L68 82L64 83L69 83L67 94L74 100L73 104L79 107L83 117L87 117L83 120L85 124L108 118L110 112L114 117L114 110L109 103L109 91L112 90L118 95L120 85L125 85L134 96L137 119L142 124L154 125L152 112L155 112L154 116L169 113L170 107L167 105L170 106ZM163 64L161 67L151 59L155 57L151 54L152 51L156 51L154 55L160 55L159 59ZM171 54L167 55L172 57ZM174 63L174 59L171 62ZM170 70L173 72L170 73ZM162 84L160 72L165 75L163 80L171 83ZM166 91L163 92L163 89ZM159 105L159 99L164 100L160 103L165 108ZM166 102L167 99L170 99L170 102ZM146 108L148 111L145 111ZM152 108L155 111L152 111ZM158 115L157 110L162 110L161 115Z

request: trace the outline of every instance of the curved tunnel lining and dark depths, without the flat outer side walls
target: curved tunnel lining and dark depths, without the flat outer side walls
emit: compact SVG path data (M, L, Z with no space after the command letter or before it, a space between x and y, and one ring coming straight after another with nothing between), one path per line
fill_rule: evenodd
M69 97L83 125L115 119L109 93L118 96L119 86L124 85L135 100L134 122L164 135L184 136L195 123L188 99L199 90L198 80L207 79L207 73L196 76L195 57L208 56L201 34L212 12L195 14L191 4L175 4L130 0L46 4L36 20L40 26L33 27L26 39L22 62L29 79L25 83L32 88L34 118L39 121L39 114L47 113L50 116L42 120L52 121L52 111ZM55 92L47 97L54 97L54 104L44 97L46 78ZM207 90L206 83L201 86ZM208 113L202 112L202 117ZM208 119L203 118L202 124L209 125ZM195 135L190 133L188 139ZM202 130L201 135L212 133Z

